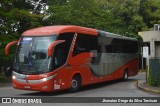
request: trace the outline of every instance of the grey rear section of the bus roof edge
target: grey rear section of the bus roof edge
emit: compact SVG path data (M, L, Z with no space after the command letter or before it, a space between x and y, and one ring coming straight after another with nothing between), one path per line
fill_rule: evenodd
M117 38L117 39L126 39L126 40L137 41L136 38L121 36L121 35L118 35L118 34L114 34L114 33L110 33L110 32L105 32L105 31L101 31L101 30L99 30L99 34L100 34L101 37L110 37L110 38Z

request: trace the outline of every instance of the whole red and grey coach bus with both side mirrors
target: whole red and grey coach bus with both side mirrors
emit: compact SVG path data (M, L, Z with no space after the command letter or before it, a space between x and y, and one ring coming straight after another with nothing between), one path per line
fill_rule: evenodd
M16 89L54 92L81 86L127 80L137 75L138 41L135 38L81 26L45 26L22 33L12 66Z

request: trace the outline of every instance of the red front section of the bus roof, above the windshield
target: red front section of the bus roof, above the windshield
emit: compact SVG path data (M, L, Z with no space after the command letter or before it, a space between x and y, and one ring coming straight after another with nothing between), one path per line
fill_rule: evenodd
M74 25L65 25L65 26L59 25L59 26L44 26L39 28L33 28L22 33L22 36L47 36L65 32L78 32L84 34L98 35L98 32L95 29L81 27L81 26L74 26Z

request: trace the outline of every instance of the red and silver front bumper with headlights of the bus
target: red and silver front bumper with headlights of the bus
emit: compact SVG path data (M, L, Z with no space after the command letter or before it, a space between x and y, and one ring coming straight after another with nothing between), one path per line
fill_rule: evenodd
M48 77L29 76L26 78L14 72L12 75L12 86L15 89L32 90L41 92L53 92L67 88L65 79L55 78L57 74Z

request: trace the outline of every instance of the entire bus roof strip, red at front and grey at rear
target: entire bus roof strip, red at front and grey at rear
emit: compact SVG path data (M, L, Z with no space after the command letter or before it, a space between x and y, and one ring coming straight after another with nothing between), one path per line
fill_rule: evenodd
M105 32L101 30L75 26L75 25L57 25L57 26L44 26L39 28L33 28L22 33L22 36L48 36L48 35L65 33L65 32L77 32L77 33L84 33L84 34L90 34L95 36L100 35L101 37L111 37L111 38L137 41L137 39L135 38L125 37L125 36L121 36L121 35L110 33L110 32Z

